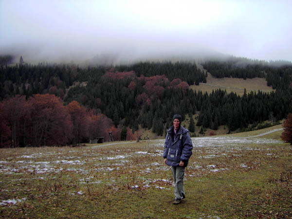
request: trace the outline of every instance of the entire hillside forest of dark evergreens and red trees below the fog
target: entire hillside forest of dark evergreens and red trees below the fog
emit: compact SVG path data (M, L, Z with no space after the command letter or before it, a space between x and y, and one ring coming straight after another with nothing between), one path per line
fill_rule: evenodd
M76 145L99 136L107 141L109 132L115 140L134 140L140 128L164 136L175 113L191 117L191 132L222 125L243 131L292 111L291 63L231 57L201 64L213 77L264 77L276 91L193 91L190 85L206 83L194 62L79 67L23 59L9 65L1 57L0 146Z

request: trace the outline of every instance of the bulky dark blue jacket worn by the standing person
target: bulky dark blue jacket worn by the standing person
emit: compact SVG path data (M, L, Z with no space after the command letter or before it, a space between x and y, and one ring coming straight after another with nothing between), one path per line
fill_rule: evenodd
M178 133L174 136L173 126L167 130L164 142L163 157L166 158L166 164L169 166L178 166L181 161L184 167L192 155L193 144L188 129L180 127Z

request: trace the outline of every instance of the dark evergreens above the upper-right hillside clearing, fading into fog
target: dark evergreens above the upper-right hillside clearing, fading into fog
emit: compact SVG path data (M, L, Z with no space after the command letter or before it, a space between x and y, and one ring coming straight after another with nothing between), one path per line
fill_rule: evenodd
M209 60L201 63L213 77L255 78L264 77L273 89L288 89L292 77L292 63L260 61L240 57Z

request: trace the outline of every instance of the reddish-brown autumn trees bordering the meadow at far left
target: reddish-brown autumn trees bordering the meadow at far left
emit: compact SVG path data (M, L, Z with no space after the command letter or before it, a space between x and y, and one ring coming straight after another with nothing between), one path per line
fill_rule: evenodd
M16 95L0 102L0 147L62 146L89 143L96 137L134 140L126 127L76 101L64 106L53 94ZM123 139L124 138L124 139Z

